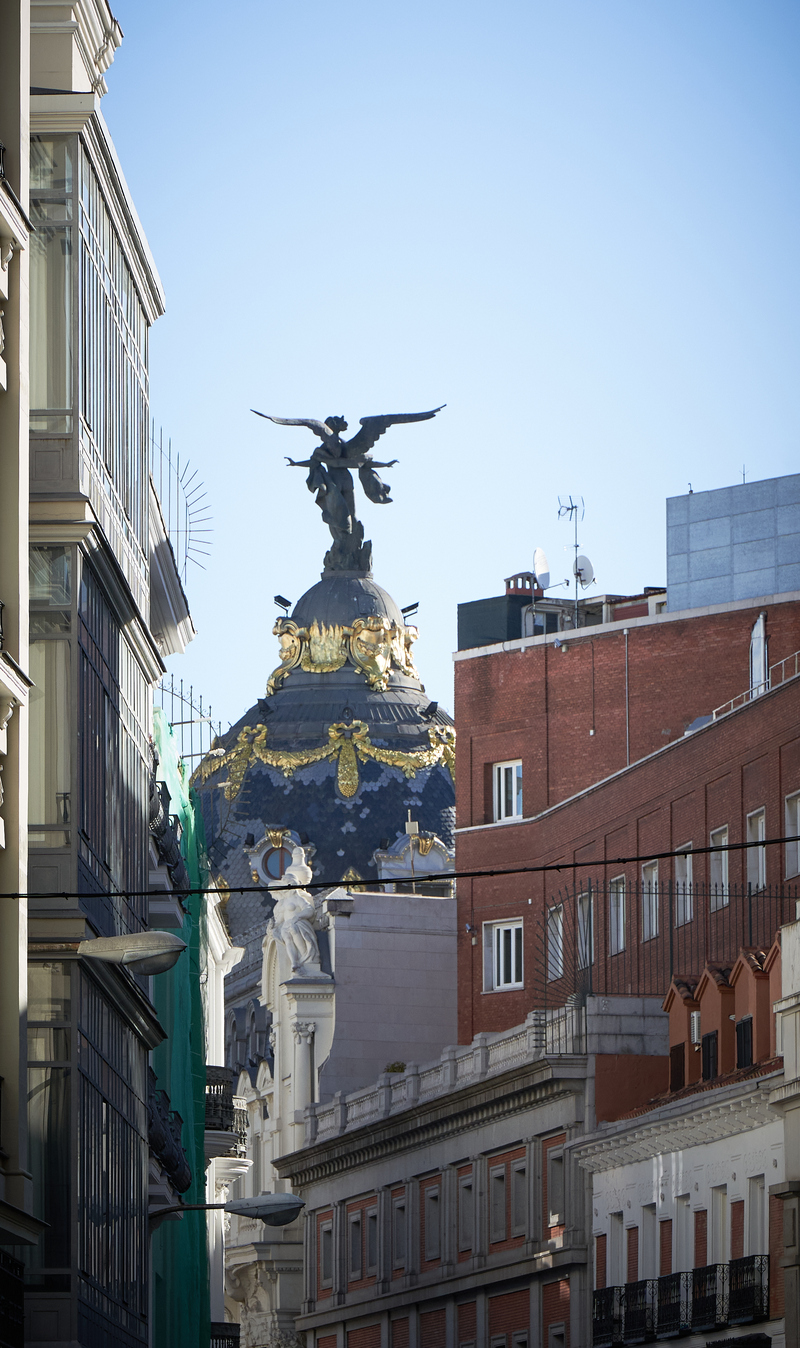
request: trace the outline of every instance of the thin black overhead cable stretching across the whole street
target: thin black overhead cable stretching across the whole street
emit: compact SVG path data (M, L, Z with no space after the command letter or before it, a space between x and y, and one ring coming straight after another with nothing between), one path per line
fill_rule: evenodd
M615 857L598 857L596 861L552 861L549 865L510 865L510 867L492 867L490 869L480 871L436 871L430 875L414 875L407 879L401 876L391 876L386 880L312 880L309 884L295 886L295 888L302 890L340 890L343 887L349 887L355 890L364 888L364 886L372 884L442 884L448 880L486 880L494 879L503 875L544 875L546 872L561 872L561 871L592 871L602 867L603 869L608 865L633 865L644 861L662 861L670 856L704 856L708 852L746 852L751 847L781 847L785 842L800 842L800 834L793 834L791 837L780 838L758 838L755 842L720 842L715 847L693 847L693 848L673 848L669 852L645 852L637 853L635 856L615 856ZM171 890L171 894L177 894L179 898L190 898L193 894L217 894L219 886L205 884L198 886L193 890ZM277 884L233 884L225 883L228 894L273 894L275 890L293 888L293 886ZM116 899L144 899L151 895L163 895L163 890L112 890L109 891L109 898ZM94 895L97 898L97 895ZM0 899L85 899L88 895L85 892L78 892L73 890L50 890L39 891L36 894L23 894L20 891L0 894Z

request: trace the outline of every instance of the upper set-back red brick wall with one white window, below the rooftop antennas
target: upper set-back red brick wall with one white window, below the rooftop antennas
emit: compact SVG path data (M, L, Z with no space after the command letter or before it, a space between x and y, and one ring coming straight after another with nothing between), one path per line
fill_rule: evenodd
M749 686L750 631L760 611L631 627L627 643L622 631L588 628L563 638L567 650L549 644L456 659L459 828L491 817L487 763L522 759L526 817L625 767L626 646L630 760L680 740L695 717ZM773 605L766 623L770 662L800 647L799 604Z

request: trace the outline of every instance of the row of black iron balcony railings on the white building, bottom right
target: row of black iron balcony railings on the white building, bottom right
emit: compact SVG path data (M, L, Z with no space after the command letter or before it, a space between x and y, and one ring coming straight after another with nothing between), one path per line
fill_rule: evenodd
M594 1294L594 1348L650 1343L769 1316L769 1255L644 1278Z

